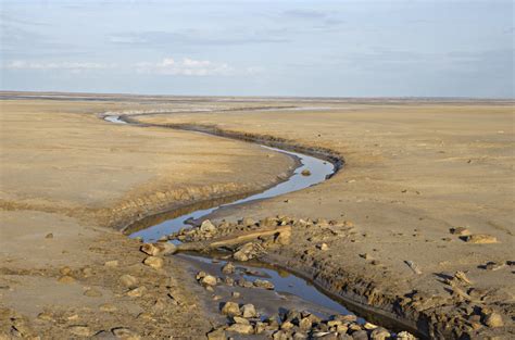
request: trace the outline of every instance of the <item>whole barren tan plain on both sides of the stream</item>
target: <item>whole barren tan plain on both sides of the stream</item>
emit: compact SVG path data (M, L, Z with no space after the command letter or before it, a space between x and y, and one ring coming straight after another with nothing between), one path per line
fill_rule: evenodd
M167 256L164 269L150 268L139 243L116 228L194 201L262 190L294 166L252 143L113 125L99 118L108 111L146 124L330 150L344 167L325 182L210 218L316 221L313 228L293 224L292 241L263 261L427 337L515 335L512 102L4 97L5 335L117 328L156 338L205 335L215 316L180 260ZM350 228L331 234L332 219ZM127 295L118 280L125 274L138 279L130 289L146 287L142 297ZM154 311L166 294L180 303L168 299L164 312Z

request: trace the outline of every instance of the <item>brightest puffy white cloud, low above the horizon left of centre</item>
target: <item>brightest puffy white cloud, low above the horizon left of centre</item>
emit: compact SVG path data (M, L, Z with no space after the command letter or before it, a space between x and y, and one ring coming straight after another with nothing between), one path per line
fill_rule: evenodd
M136 70L145 74L177 75L177 76L215 76L233 75L235 68L226 63L214 63L208 60L184 58L180 61L165 58L156 63L137 63Z

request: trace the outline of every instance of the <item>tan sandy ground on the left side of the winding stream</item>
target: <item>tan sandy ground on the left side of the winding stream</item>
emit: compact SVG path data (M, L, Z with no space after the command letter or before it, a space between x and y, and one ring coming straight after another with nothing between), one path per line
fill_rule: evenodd
M117 328L129 329L118 336L198 339L211 328L204 292L180 260L145 265L140 244L115 228L261 190L294 162L250 143L95 114L129 104L139 105L1 101L1 339L109 338ZM123 285L122 275L135 282Z

